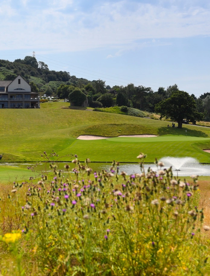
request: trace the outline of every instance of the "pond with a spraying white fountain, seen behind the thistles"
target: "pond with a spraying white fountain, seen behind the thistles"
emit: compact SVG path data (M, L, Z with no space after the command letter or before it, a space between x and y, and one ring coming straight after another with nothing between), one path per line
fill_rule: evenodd
M210 176L210 164L201 164L197 159L192 157L163 157L159 161L162 161L165 166L162 168L169 168L172 166L173 174L175 176L191 176L192 174L196 174L199 176ZM58 163L59 169L63 169L66 163ZM70 168L74 167L73 163L68 163ZM35 166L35 163L0 163L1 165L11 166L11 167L19 167L23 169L27 169L29 166ZM100 171L102 169L109 170L111 163L90 163L90 167L93 171ZM151 167L153 170L158 171L157 166L153 163L145 164L145 170ZM49 163L40 163L35 166L35 171L50 171ZM119 171L125 171L127 174L132 173L140 173L141 169L138 163L121 163L119 166Z

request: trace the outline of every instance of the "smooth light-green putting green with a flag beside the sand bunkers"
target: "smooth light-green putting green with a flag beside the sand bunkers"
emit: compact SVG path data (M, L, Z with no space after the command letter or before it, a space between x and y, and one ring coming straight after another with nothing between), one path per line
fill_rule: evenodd
M202 141L210 140L209 138L184 136L184 135L163 135L158 137L113 137L107 139L113 142L129 142L129 143L156 143L156 142L167 142L167 141Z

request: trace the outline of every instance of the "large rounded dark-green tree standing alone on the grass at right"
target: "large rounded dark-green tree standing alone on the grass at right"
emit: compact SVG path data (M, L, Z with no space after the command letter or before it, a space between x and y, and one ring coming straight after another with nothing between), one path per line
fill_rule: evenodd
M155 112L178 123L182 128L183 120L196 123L203 119L203 114L196 110L196 102L187 92L172 91L169 98L155 105ZM160 118L160 119L161 119Z

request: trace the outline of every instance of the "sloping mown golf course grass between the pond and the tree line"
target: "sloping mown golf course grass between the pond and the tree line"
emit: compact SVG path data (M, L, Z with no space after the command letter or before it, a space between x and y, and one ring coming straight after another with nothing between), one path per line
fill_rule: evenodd
M183 125L168 128L168 122L114 113L74 110L64 102L41 104L41 109L0 110L1 162L42 161L41 154L55 150L59 156L77 154L80 160L136 162L139 152L148 154L147 162L163 156L191 156L210 162L210 128ZM171 124L171 123L170 123ZM185 136L187 130L187 138ZM154 134L152 138L111 138L77 140L79 135L116 137ZM163 136L167 135L167 136ZM62 160L71 160L64 157Z

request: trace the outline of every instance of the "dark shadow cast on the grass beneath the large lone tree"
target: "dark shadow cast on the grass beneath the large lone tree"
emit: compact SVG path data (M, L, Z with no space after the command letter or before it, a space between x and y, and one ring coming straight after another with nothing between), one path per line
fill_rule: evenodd
M208 136L208 134L206 134L205 132L202 132L201 130L192 130L192 129L188 129L188 128L173 128L173 127L160 127L158 129L158 135L186 135L186 131L187 131L187 136L194 136L194 137L203 137L203 138L210 138L210 136Z

